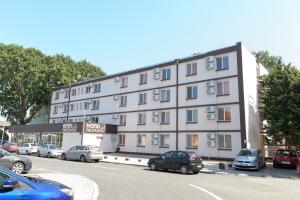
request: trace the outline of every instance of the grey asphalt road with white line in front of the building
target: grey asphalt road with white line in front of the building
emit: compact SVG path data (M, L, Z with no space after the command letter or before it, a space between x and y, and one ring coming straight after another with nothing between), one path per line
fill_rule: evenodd
M29 174L66 173L87 177L97 184L101 200L298 200L300 196L300 181L295 179L181 175L154 172L141 166L28 157L33 161Z

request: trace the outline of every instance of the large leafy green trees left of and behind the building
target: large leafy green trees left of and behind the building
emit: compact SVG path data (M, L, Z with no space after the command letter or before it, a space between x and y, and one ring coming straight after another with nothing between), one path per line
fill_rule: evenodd
M85 60L0 44L0 113L12 124L27 124L50 103L54 87L103 75L101 68Z

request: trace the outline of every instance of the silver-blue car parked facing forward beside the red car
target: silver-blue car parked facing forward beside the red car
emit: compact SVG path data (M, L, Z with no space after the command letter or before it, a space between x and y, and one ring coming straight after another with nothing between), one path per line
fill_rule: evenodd
M235 169L260 170L266 166L265 156L259 149L242 149L234 159Z

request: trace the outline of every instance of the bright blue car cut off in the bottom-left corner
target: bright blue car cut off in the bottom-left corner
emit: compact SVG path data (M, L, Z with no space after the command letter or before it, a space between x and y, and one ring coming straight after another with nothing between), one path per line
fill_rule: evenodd
M63 184L23 177L0 167L0 200L73 200L73 195Z

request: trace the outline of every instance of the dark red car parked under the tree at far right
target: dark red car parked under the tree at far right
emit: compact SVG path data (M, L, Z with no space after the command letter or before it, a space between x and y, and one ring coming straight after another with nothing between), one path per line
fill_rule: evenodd
M273 167L296 168L299 158L295 150L278 149L273 158Z

